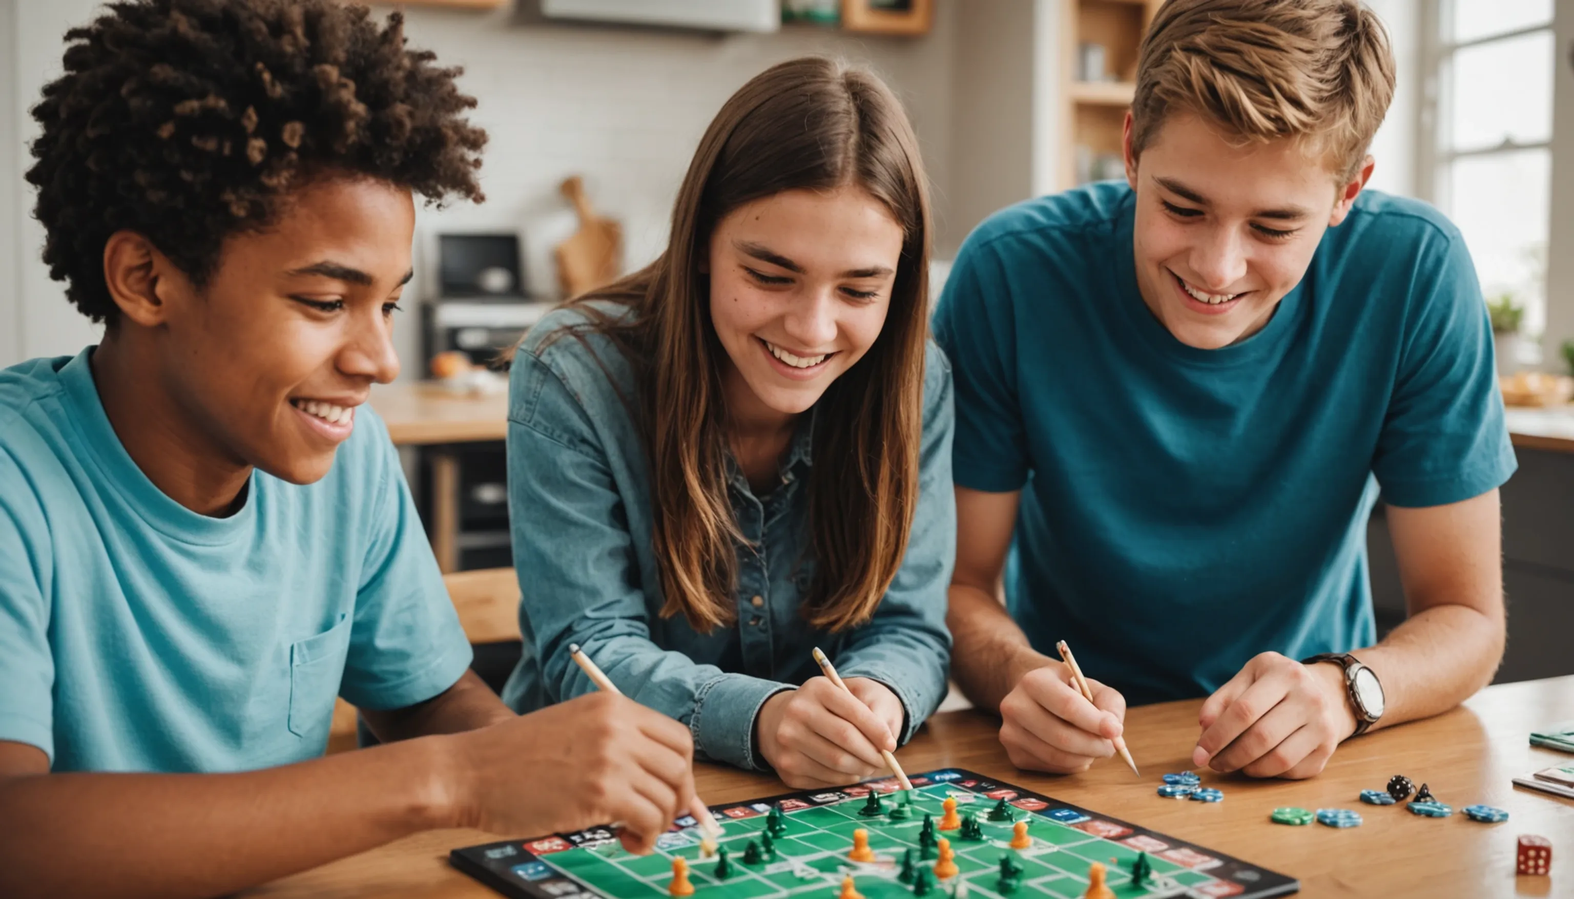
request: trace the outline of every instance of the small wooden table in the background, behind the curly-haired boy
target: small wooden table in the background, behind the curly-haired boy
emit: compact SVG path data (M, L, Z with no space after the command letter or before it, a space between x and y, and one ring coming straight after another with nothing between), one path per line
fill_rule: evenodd
M460 568L460 463L449 444L508 436L508 394L455 394L439 384L384 384L371 408L395 446L423 446L431 461L431 551L444 573Z

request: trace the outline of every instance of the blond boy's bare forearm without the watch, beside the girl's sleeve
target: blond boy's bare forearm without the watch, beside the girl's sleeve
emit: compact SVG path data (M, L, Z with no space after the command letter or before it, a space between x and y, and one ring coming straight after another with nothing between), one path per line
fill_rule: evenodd
M988 592L951 584L951 677L979 708L998 712L1022 675L1051 660L1028 642L1011 612Z

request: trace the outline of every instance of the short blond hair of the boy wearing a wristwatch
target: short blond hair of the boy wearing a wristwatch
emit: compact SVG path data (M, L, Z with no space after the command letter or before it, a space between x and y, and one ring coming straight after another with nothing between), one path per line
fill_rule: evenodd
M1242 142L1288 137L1352 178L1393 99L1393 52L1358 0L1169 0L1136 63L1132 151L1192 112Z

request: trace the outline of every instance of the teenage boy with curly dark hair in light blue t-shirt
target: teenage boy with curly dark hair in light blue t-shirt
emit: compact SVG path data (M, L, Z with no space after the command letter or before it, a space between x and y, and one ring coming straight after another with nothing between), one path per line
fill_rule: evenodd
M688 731L467 671L387 431L412 195L480 200L456 69L334 0L132 0L33 110L101 343L0 372L0 894L212 896L431 827L693 800ZM384 745L321 757L335 696Z

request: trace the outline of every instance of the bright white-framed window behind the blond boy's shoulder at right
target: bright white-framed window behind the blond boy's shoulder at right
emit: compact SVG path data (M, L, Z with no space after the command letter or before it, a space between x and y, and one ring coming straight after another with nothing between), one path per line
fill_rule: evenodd
M1486 296L1511 294L1520 331L1546 323L1552 191L1554 0L1424 3L1431 79L1421 195L1465 236Z

